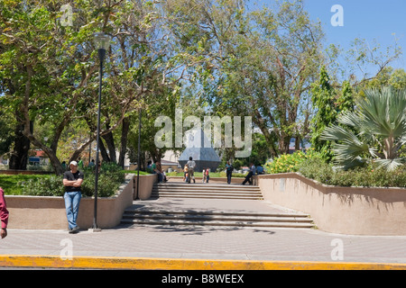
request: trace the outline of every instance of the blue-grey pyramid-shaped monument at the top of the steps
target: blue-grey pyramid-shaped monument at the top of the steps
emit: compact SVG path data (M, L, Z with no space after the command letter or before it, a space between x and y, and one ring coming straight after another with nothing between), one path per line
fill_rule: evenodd
M203 168L209 168L212 172L217 170L217 166L221 162L220 157L218 157L216 150L209 144L210 142L203 130L188 130L185 133L184 143L186 148L178 160L182 169L188 163L189 157L193 157L193 161L196 162L196 172L201 172Z

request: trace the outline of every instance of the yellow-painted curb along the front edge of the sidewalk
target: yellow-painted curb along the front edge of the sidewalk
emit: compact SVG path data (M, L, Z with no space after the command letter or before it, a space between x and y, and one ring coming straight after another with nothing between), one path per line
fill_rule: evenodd
M0 256L1 267L125 270L406 270L398 263L257 261L142 257Z

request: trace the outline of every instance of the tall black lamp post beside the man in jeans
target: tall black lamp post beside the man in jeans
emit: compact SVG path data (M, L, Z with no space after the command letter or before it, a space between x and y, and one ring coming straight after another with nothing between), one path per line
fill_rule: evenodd
M106 57L106 50L110 46L110 36L104 33L95 34L95 44L98 52L98 58L100 60L100 73L98 84L98 107L97 107L97 140L96 140L96 170L95 170L95 213L93 217L93 231L100 231L97 227L97 182L98 182L98 149L100 141L100 106L101 106L101 93L102 93L102 79L103 79L103 61Z

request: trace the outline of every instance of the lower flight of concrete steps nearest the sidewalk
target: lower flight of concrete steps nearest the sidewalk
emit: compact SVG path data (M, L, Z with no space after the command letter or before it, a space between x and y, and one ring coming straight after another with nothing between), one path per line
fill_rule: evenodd
M122 224L194 225L229 227L313 228L313 220L300 213L255 213L243 211L125 210Z

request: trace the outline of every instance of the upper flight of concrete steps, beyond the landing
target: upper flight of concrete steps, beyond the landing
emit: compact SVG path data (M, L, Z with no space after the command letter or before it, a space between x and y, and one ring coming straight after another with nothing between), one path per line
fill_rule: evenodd
M263 195L257 186L237 184L203 183L165 183L154 184L152 199L171 198L209 198L209 199L245 199L262 200Z

